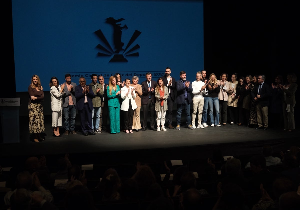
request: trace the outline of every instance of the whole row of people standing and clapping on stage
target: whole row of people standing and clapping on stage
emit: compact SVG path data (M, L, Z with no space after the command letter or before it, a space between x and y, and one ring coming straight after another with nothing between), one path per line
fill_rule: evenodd
M70 74L66 74L65 82L59 85L58 79L53 76L49 82L53 135L61 136L58 127L62 125L62 110L64 135L76 134L76 110L80 115L84 136L102 133L102 129L107 131L108 115L111 134L118 134L120 131L128 134L133 131L146 131L148 113L150 113L150 130L167 131L165 124L167 128L174 129L172 126L174 103L177 104L176 130L180 130L183 110L188 129L205 128L208 127L207 124L210 127L220 127L229 122L230 125L244 124L267 130L269 111L282 113L284 130L295 129L297 77L293 73L287 75L286 85L283 85L282 76L277 76L271 86L265 83L264 75L241 76L237 80L237 74L233 73L231 79L227 81L227 73L222 73L220 79L217 79L214 73L206 78L206 71L202 70L196 72L196 80L193 82L186 79L185 71L181 71L179 76L180 79L176 81L171 76L170 67L166 68L165 75L157 81L152 80L152 73L146 73L146 80L141 85L138 84L138 76L122 81L119 73L110 76L108 84L104 83L103 76L92 74L89 85L86 85L84 77L80 77L79 85L76 85L71 82ZM35 142L43 141L44 138L40 133L45 130L41 104L44 92L37 75L32 76L28 93L29 131L35 134ZM141 107L143 107L142 124Z

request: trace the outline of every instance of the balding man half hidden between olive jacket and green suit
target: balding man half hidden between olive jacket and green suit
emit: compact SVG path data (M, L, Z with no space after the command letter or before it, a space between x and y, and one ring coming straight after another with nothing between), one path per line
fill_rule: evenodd
M102 129L104 131L107 131L107 115L108 115L108 102L107 102L107 91L106 88L108 86L107 83L104 83L104 77L103 76L99 76L98 77L98 81L100 83L100 85L103 86L103 96L101 98L102 100L102 105L101 105L101 112L100 112L100 122L99 122L99 131L102 131ZM103 124L102 124L102 120L103 120Z

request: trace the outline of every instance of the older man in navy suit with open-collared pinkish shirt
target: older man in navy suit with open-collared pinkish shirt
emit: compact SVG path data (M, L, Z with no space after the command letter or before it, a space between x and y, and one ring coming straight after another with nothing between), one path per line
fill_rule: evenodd
M84 136L96 135L92 129L92 98L94 93L91 85L86 85L84 77L79 78L79 85L75 87L76 109L80 115L80 125ZM85 127L85 123L87 127Z

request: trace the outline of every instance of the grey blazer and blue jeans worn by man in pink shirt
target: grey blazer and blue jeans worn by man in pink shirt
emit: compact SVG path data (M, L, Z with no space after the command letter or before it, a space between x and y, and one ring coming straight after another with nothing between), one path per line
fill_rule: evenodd
M73 85L73 89L71 91L68 90L67 83L65 82L64 91L62 95L62 106L64 110L64 129L66 131L74 131L75 130L75 117L76 117L76 98L75 98L75 87L76 83L71 82ZM72 98L73 105L70 104L70 97Z

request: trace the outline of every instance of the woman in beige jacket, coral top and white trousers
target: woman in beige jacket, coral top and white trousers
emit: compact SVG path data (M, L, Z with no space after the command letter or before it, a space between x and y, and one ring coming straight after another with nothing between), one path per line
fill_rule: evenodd
M169 97L168 88L164 85L163 78L158 78L157 86L155 88L155 111L156 111L156 123L157 131L167 131L165 128L166 113L168 110L167 98ZM161 128L160 128L161 124Z

